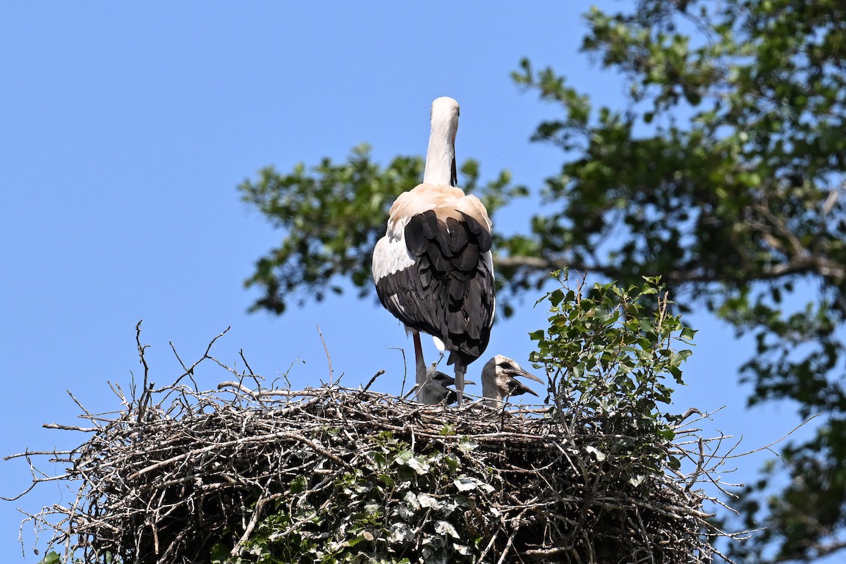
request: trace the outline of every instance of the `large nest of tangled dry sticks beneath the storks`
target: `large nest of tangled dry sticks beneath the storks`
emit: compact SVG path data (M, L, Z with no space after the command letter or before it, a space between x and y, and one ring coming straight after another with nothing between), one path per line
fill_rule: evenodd
M127 399L116 387L120 411L86 414L88 440L49 453L77 496L36 524L85 562L678 564L718 554L703 510L711 498L691 487L708 473L702 443L684 432L667 457L698 457L693 472L633 474L630 446L643 437L596 418L338 386L253 388L177 383Z

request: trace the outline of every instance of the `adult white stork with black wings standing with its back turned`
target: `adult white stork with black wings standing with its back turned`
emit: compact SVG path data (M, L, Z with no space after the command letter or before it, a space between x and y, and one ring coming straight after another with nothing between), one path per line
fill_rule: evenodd
M423 183L393 202L373 251L373 280L382 305L413 332L417 384L426 370L422 331L449 351L461 405L464 374L485 352L496 300L491 220L478 198L455 186L458 129L459 103L433 101Z

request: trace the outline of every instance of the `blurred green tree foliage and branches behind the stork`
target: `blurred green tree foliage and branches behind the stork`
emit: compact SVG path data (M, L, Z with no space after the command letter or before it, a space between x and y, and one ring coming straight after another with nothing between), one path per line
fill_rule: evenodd
M459 178L496 222L535 194L525 233L499 237L499 303L569 266L618 280L661 275L755 336L740 378L750 404L792 400L823 413L816 435L744 490L743 518L766 526L733 547L748 562L846 554L846 3L843 0L638 0L586 15L583 51L628 97L594 107L552 68L524 60L514 80L559 117L534 140L563 165L529 191L507 172L481 185L476 162ZM371 291L371 249L387 210L418 183L419 157L387 167L365 148L241 185L244 199L284 231L247 281L257 309L321 298L351 277ZM777 479L774 479L777 478ZM774 482L777 485L774 485Z

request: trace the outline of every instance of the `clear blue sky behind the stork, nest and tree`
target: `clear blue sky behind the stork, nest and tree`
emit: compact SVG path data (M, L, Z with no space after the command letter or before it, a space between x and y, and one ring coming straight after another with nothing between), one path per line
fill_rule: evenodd
M243 348L269 380L294 363L294 387L318 386L328 380L320 326L343 384L386 370L374 387L398 392L403 361L390 348L413 351L375 297L330 297L282 317L247 313L258 294L244 279L283 234L239 200L236 186L266 165L287 172L323 156L343 161L361 142L382 163L422 155L431 101L453 96L459 161L479 160L482 179L508 168L515 182L540 187L563 156L529 137L559 109L512 83L520 57L558 68L597 103L625 104L618 77L578 52L590 5L0 5L0 455L84 441L41 428L79 421L67 391L91 411L118 408L107 381L126 389L142 375L139 320L159 385L181 374L168 342L191 362L231 326L211 351L222 362L241 367ZM495 228L523 230L531 211L501 211ZM528 365L528 333L546 326L535 299L495 326L486 357ZM751 340L710 315L688 320L700 332L678 410L727 406L707 432L745 435L749 449L790 430L798 419L788 404L744 408L750 390L737 368ZM481 364L470 366L471 379ZM211 389L228 374L204 370L197 379ZM767 457L739 461L731 479L750 481ZM62 468L42 460L41 470ZM0 462L0 495L28 481L23 461ZM0 560L22 558L17 508L71 499L41 485L0 501ZM24 539L25 561L38 561L31 527Z

